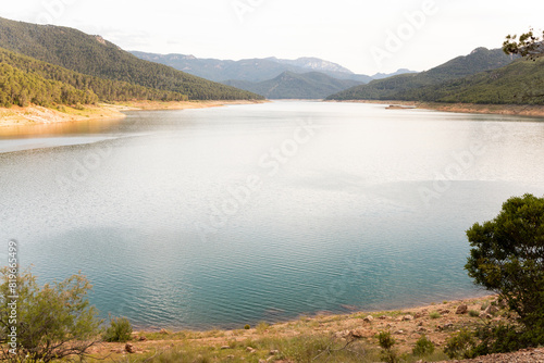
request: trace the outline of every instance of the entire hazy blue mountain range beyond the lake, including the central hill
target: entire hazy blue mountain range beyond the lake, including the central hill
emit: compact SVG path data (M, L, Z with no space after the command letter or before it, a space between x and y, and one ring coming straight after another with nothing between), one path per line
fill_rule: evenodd
M368 76L355 74L333 62L308 57L296 60L270 57L231 61L199 59L185 54L157 54L140 51L132 51L132 53L141 60L169 65L272 99L321 99L346 88L367 84L372 79L413 73L409 70L398 70L393 74L379 73Z

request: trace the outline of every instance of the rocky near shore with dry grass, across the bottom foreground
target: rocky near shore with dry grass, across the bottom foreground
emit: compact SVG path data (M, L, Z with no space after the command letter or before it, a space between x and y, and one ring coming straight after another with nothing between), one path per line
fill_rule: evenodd
M381 361L376 335L390 331L399 355L407 362L544 362L544 349L529 349L509 354L480 356L474 360L452 361L443 352L447 339L461 329L473 329L490 322L505 321L508 312L496 303L496 297L443 301L426 306L398 311L358 312L348 315L300 316L296 321L269 325L260 323L250 328L209 331L135 331L127 343L100 343L91 350L95 358L107 361L144 362L159 359L175 361L178 354L199 362L306 362L312 354L325 351L329 358L345 362L334 352L343 347L359 351L355 361ZM411 355L416 341L425 336L435 346L431 355ZM327 350L311 347L326 341ZM353 343L353 345L351 345ZM334 349L333 349L334 347ZM299 350L310 359L302 359ZM349 351L349 350L347 350ZM180 355L181 356L181 355ZM308 358L307 356L307 358ZM316 362L326 361L316 358ZM339 361L338 361L339 362Z

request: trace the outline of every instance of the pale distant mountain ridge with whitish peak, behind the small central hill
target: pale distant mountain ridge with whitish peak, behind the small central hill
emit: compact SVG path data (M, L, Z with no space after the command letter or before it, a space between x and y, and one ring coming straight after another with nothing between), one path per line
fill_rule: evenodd
M245 59L240 61L199 59L184 54L156 54L133 51L139 59L172 66L214 82L231 79L258 83L277 77L284 72L308 73L321 72L339 79L353 79L360 83L372 80L367 75L354 74L349 70L317 58L300 58L298 60L280 60L276 58Z

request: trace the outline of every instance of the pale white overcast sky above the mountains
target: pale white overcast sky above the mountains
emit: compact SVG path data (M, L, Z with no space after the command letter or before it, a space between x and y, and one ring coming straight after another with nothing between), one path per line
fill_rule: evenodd
M429 70L544 27L542 0L3 0L0 16L99 34L125 50L317 57L355 73Z

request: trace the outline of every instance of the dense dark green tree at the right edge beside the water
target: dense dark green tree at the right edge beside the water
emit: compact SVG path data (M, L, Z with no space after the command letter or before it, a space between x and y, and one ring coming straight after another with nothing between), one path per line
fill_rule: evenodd
M544 198L510 198L467 236L465 268L474 283L497 292L528 329L544 326Z

